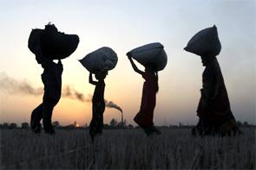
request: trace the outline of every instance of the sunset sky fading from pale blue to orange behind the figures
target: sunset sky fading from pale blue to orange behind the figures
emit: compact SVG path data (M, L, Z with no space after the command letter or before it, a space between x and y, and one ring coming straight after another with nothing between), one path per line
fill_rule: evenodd
M128 123L141 104L143 79L130 66L126 53L159 41L167 52L166 68L159 72L160 91L154 123L195 124L200 98L200 57L183 50L187 41L203 28L218 28L222 49L217 57L226 82L233 115L256 123L256 1L254 0L0 0L1 76L43 87L43 68L28 48L31 28L48 22L80 43L74 54L62 60L62 85L72 86L85 97L92 95L89 72L78 62L99 47L111 47L118 55L106 78L105 98L121 106ZM143 66L137 64L141 69ZM43 95L12 93L0 86L0 123L30 122L30 113ZM61 98L53 121L89 124L91 104ZM118 110L107 108L104 123L120 121Z

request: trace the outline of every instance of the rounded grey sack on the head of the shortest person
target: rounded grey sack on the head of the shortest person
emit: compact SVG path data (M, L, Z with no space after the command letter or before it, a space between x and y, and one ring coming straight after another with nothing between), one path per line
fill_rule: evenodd
M79 60L89 72L112 70L117 64L117 55L110 47L101 47Z

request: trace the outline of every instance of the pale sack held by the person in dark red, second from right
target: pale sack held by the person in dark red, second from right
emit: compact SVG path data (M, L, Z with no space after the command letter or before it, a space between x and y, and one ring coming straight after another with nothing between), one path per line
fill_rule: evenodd
M167 54L159 42L136 47L128 53L143 66L153 64L157 71L161 71L167 66Z

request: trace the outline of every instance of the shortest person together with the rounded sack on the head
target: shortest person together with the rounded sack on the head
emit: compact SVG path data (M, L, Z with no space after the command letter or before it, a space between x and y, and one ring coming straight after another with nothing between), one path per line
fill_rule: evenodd
M94 142L95 135L102 134L103 113L105 110L105 81L108 71L115 68L117 64L117 55L110 47L101 47L94 52L87 54L82 60L79 60L89 71L89 83L95 85L95 92L92 98L92 119L89 124L89 135ZM93 80L92 74L95 74Z

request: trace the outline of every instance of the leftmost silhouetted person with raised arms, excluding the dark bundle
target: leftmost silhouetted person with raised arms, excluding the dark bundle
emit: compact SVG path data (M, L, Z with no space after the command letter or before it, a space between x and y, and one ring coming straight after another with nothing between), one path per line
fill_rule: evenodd
M53 60L44 56L39 47L36 49L36 61L43 67L41 77L44 85L44 94L43 103L32 111L30 127L33 132L40 133L40 121L43 119L45 133L53 135L55 130L51 123L51 117L54 107L59 102L62 94L62 61L59 60L56 64Z

